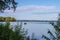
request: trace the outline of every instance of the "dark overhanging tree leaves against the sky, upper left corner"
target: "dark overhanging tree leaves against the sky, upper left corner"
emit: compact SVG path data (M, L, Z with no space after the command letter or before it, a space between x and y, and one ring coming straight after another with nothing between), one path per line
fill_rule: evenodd
M11 8L15 11L16 7L17 2L15 2L15 0L0 0L0 12L6 9L10 10Z

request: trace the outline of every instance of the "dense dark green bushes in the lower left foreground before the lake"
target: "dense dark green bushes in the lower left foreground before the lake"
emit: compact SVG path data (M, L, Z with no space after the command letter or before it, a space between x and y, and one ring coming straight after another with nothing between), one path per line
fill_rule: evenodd
M24 40L27 37L26 32L20 26L16 26L13 31L10 23L0 23L0 40Z

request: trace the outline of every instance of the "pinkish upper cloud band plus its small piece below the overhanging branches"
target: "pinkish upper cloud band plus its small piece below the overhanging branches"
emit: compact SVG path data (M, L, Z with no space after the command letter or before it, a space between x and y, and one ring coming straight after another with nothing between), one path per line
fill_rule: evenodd
M36 12L36 11L49 11L56 9L56 6L39 6L39 5L26 5L26 6L20 6L16 8L16 12ZM5 12L13 12L13 10L6 10Z

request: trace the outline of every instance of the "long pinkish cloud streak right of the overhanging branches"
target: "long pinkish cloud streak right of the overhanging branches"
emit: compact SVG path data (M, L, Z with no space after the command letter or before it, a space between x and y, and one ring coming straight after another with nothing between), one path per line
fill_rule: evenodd
M37 5L27 5L20 6L17 8L19 11L33 11L33 10L53 10L55 6L37 6Z

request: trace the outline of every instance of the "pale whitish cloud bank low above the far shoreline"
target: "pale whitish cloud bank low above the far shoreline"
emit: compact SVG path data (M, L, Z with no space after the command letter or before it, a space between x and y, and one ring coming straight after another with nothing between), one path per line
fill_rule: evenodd
M17 17L18 16L18 17ZM18 20L57 20L58 14L29 14L29 13L17 13L15 17Z

